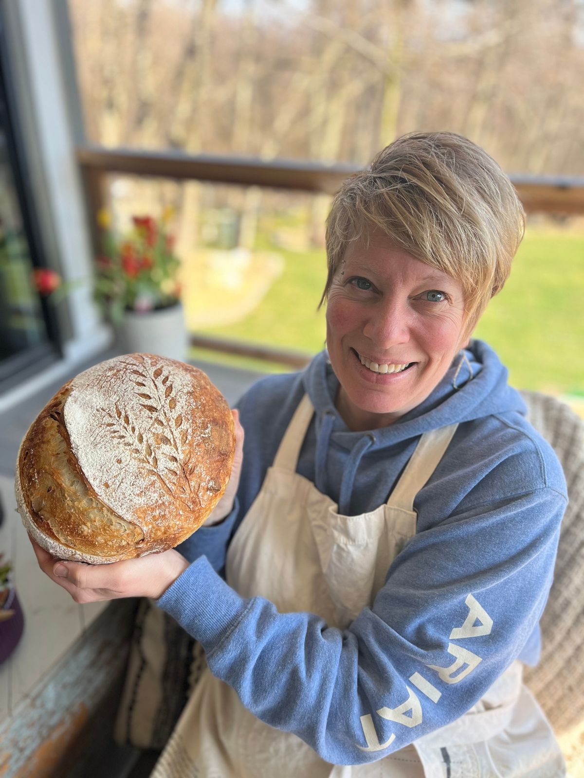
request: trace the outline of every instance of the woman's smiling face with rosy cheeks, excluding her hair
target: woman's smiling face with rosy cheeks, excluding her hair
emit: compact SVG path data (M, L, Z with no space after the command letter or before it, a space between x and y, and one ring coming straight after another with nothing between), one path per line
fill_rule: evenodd
M373 233L353 241L326 308L326 345L350 429L391 424L425 400L466 344L456 279Z

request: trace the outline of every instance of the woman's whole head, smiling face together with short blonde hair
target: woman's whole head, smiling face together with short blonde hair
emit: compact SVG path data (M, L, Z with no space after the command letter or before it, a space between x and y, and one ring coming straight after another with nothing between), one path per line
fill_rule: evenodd
M523 226L497 163L458 135L400 138L346 182L321 303L350 429L386 426L427 398L505 283Z

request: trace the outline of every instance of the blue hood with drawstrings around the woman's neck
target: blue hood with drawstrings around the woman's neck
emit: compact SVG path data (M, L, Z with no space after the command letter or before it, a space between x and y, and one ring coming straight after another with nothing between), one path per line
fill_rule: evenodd
M315 485L322 492L329 487L331 447L345 450L339 492L339 509L343 510L350 502L355 475L365 454L403 451L413 446L421 434L457 422L508 412L525 415L525 403L519 392L508 386L507 376L506 367L493 349L473 340L459 352L440 383L420 405L389 426L354 432L335 408L339 380L327 353L321 352L303 374L304 389L316 412Z

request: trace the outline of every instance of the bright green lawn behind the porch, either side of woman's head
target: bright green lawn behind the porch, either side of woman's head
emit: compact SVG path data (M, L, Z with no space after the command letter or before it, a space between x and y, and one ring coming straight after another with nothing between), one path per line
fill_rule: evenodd
M315 310L325 282L324 251L274 251L285 260L283 273L253 313L205 331L317 352L325 337L324 311ZM505 289L491 300L475 334L497 350L515 386L579 394L584 391L582 308L584 235L533 227Z

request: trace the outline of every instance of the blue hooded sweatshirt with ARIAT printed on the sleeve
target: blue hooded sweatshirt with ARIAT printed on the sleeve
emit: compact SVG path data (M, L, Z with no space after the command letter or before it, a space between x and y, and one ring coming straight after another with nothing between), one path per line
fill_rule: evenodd
M497 355L480 341L465 355L463 370L456 359L424 402L371 433L350 431L336 412L339 384L325 352L303 373L255 384L238 403L245 446L234 510L179 547L192 564L158 601L202 643L213 674L252 713L294 732L332 764L403 748L470 710L512 661L536 664L539 657L565 479ZM311 613L280 614L264 598L241 598L222 577L230 538L304 392L315 416L297 471L343 514L385 503L420 435L459 422L414 501L417 534L392 562L372 607L345 630ZM487 634L473 629L489 618ZM457 628L464 640L455 640ZM463 678L466 663L476 667ZM431 682L425 691L424 678ZM361 717L380 710L385 717L375 718L375 731L388 745L364 750Z

